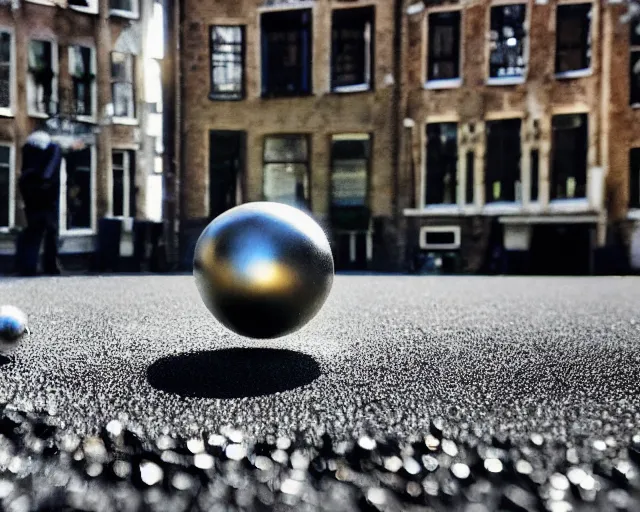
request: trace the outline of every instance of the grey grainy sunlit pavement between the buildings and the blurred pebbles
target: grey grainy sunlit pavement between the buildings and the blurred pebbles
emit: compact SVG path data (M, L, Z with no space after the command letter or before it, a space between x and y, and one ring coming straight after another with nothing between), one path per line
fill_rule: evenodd
M78 436L118 420L148 439L597 451L640 432L636 277L338 276L315 319L271 341L218 324L191 276L5 279L0 303L32 329L0 367L0 403Z

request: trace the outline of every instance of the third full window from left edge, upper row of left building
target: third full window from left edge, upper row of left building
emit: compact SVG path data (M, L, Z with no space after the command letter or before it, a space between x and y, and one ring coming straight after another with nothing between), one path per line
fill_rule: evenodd
M69 47L69 75L76 115L92 117L96 112L95 50L87 46Z

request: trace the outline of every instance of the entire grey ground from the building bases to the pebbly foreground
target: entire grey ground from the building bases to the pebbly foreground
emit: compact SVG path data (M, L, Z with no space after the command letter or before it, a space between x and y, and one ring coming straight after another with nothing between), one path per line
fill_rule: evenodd
M228 333L190 276L0 282L8 510L636 510L640 279L340 276ZM66 507L66 508L65 508Z

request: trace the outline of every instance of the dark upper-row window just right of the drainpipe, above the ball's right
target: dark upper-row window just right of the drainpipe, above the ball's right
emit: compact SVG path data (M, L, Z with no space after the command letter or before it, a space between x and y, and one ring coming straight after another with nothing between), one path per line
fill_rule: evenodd
M460 11L429 14L427 80L460 78Z

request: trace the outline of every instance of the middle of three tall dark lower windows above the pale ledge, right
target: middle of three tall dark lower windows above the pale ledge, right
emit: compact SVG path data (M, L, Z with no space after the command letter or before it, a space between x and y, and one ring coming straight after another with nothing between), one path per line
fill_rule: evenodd
M487 121L485 202L521 201L520 119Z

